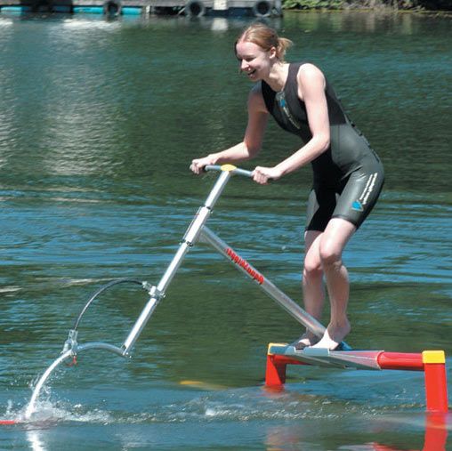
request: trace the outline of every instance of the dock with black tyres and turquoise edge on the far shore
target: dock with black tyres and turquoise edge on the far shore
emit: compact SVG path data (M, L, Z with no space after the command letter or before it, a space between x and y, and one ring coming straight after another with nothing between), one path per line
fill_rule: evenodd
M281 0L0 0L0 14L68 13L280 17Z

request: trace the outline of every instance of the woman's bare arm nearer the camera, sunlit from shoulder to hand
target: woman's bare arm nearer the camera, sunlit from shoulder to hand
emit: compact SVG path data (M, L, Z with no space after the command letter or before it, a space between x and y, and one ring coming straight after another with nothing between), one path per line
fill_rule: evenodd
M298 96L306 106L312 138L301 149L274 167L258 166L254 169L254 180L266 183L269 179L278 179L286 173L292 173L307 165L325 152L330 143L326 81L319 68L312 64L303 64L298 71Z

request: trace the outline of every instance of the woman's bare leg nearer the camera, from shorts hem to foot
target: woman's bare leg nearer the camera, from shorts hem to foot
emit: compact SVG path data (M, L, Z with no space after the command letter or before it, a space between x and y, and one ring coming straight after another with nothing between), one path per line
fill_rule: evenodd
M334 350L351 330L347 318L349 278L347 269L343 265L342 254L355 230L356 227L350 221L333 218L328 222L327 229L321 234L318 243L319 260L327 280L331 318L327 332L315 345L316 348Z

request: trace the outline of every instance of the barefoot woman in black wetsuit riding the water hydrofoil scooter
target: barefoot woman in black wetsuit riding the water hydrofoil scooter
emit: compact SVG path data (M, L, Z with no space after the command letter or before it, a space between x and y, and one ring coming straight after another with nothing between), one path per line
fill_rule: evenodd
M205 165L253 158L261 149L269 115L303 147L278 165L257 166L254 181L267 183L311 163L314 181L304 235L303 297L305 310L320 319L324 304L323 278L331 304L327 331L319 340L311 331L295 342L337 350L351 326L347 318L348 273L343 248L375 205L383 187L383 165L362 133L345 115L319 68L308 62L287 63L291 41L257 23L239 36L235 52L240 70L254 85L248 97L244 140L230 149L194 159L200 173Z

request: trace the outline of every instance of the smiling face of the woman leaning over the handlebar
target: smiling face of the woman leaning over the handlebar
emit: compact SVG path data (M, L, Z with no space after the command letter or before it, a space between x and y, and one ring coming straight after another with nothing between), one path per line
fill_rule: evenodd
M254 82L268 78L272 64L278 60L274 47L265 51L261 46L244 40L240 40L236 44L236 56L240 64L240 71Z

